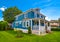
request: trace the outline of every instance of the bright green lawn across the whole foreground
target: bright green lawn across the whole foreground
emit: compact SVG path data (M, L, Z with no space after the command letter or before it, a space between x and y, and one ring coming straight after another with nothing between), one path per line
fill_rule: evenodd
M60 31L54 31L45 36L23 35L22 38L16 38L13 30L0 31L0 42L60 42Z

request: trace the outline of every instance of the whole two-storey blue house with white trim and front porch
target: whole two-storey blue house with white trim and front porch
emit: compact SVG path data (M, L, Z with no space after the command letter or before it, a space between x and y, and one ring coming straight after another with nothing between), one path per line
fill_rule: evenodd
M48 21L45 20L43 14L40 13L40 9L30 9L22 14L16 16L15 21L12 23L14 30L22 30L28 32L28 27L31 27L32 34L46 34L46 31L51 31Z

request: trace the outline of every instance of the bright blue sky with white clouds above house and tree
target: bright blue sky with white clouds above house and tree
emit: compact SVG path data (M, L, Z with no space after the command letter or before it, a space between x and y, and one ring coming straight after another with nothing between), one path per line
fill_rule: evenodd
M30 8L40 8L47 20L60 18L60 0L0 0L0 21L3 20L2 11L14 6L23 12Z

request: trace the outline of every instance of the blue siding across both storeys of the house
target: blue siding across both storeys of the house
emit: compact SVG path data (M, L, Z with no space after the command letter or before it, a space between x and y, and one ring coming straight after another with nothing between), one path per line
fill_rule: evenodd
M29 18L29 19L36 18L34 15L35 15L35 13L33 11L30 11L26 14L22 14L20 16L17 16L15 21L12 23L12 27L13 28L27 29L27 27L23 27L22 23L20 24L19 21L22 21L25 17ZM38 14L37 18L44 18L44 16ZM16 22L18 22L17 25L16 25ZM30 22L29 25L31 26L31 21L29 20L29 22ZM32 22L32 25L34 25L33 22ZM41 24L41 25L44 26L44 24Z

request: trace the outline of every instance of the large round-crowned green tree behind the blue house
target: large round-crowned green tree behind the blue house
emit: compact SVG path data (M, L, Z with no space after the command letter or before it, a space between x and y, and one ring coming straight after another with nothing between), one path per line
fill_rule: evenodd
M8 23L12 23L15 20L15 16L22 13L17 7L10 7L3 11L3 18Z

